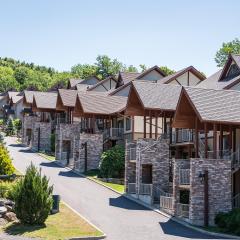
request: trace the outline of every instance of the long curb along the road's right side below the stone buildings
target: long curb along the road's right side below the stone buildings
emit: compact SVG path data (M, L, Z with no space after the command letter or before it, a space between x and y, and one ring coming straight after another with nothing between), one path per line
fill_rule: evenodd
M45 158L45 159L46 159L46 158ZM167 213L164 213L164 212L160 211L159 209L156 209L156 208L154 208L154 207L152 207L152 206L149 206L148 204L145 204L145 203L143 203L142 201L139 201L138 199L135 199L135 198L133 198L133 197L131 197L131 196L128 196L128 195L123 194L123 193L120 193L120 192L118 192L118 191L116 191L116 190L114 190L114 189L112 189L112 188L110 188L110 187L108 187L108 186L105 186L104 184L96 181L95 179L89 178L89 177L87 177L86 175L81 174L81 173L79 173L79 172L76 172L76 171L74 171L73 169L71 169L71 168L69 168L69 167L65 167L63 164L61 164L61 163L58 162L58 161L53 161L53 162L55 162L57 165L59 165L59 166L61 166L61 167L64 167L64 168L66 168L66 169L68 169L68 170L73 171L74 173L76 173L76 174L79 175L79 176L85 177L85 178L87 178L88 180L90 180L90 181L92 181L92 182L95 182L95 183L97 183L97 184L99 184L99 185L101 185L101 186L103 186L103 187L105 187L105 188L107 188L107 189L109 189L109 190L111 190L111 191L113 191L113 192L115 192L115 193L117 193L117 194L119 194L119 195L127 198L128 200L134 201L134 202L138 203L139 205L142 205L142 206L144 206L144 207L146 207L146 208L148 208L148 209L151 209L151 210L153 210L154 212L156 212L156 213L158 213L158 214L161 214L162 216L167 217L167 218L169 218L170 220L172 220L172 221L174 221L174 222L176 222L176 223L179 223L179 224L181 224L181 225L183 225L183 226L185 226L185 227L187 227L187 228L190 228L190 229L192 229L192 230L195 230L195 231L197 231L197 232L200 232L200 233L203 233L203 234L206 234L206 235L209 235L209 236L221 237L221 238L226 238L226 239L239 239L239 240L240 240L240 237L238 237L238 236L234 236L234 235L230 235L230 234L224 234L224 233L210 232L210 231L207 231L207 230L204 230L204 229L195 227L195 226L193 226L193 225L191 225L191 224L189 224L189 223L187 223L187 222L184 222L184 221L182 221L182 220L180 220L180 219L178 219L178 218L176 218L176 217L173 217L173 216L171 216L171 215L169 215L169 214L167 214ZM80 215L80 216L81 216L81 215ZM102 231L101 231L101 232L102 232ZM84 239L84 238L78 238L78 239ZM87 238L87 239L88 239L88 238ZM87 239L86 239L86 240L87 240ZM100 238L99 238L99 239L100 239ZM70 240L71 240L71 239L70 239ZM73 240L74 240L74 239L73 239ZM77 240L77 239L75 238L75 240Z

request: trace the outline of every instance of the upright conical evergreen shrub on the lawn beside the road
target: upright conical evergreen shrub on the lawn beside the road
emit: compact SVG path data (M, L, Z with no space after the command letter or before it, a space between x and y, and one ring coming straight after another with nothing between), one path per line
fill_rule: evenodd
M21 223L39 225L45 222L52 208L52 191L47 177L31 164L12 194L15 212Z

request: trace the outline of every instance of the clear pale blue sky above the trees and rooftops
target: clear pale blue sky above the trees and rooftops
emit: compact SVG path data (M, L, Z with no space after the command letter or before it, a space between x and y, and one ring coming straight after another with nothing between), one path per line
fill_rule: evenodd
M237 0L7 0L0 9L0 56L57 70L107 54L209 75L222 42L240 37Z

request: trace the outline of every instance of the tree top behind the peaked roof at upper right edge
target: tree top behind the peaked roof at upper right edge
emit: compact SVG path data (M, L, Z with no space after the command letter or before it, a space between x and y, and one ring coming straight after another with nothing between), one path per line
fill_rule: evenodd
M240 40L238 38L235 38L230 42L223 43L222 47L217 51L215 62L218 67L224 66L230 53L240 53Z

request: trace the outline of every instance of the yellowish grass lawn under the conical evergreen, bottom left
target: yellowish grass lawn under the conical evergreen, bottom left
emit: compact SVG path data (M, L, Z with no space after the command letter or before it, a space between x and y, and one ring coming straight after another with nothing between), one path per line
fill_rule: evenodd
M36 237L46 240L61 240L84 236L101 236L103 234L63 203L60 204L60 212L54 215L49 215L43 226L11 223L3 227L2 231L10 235Z

